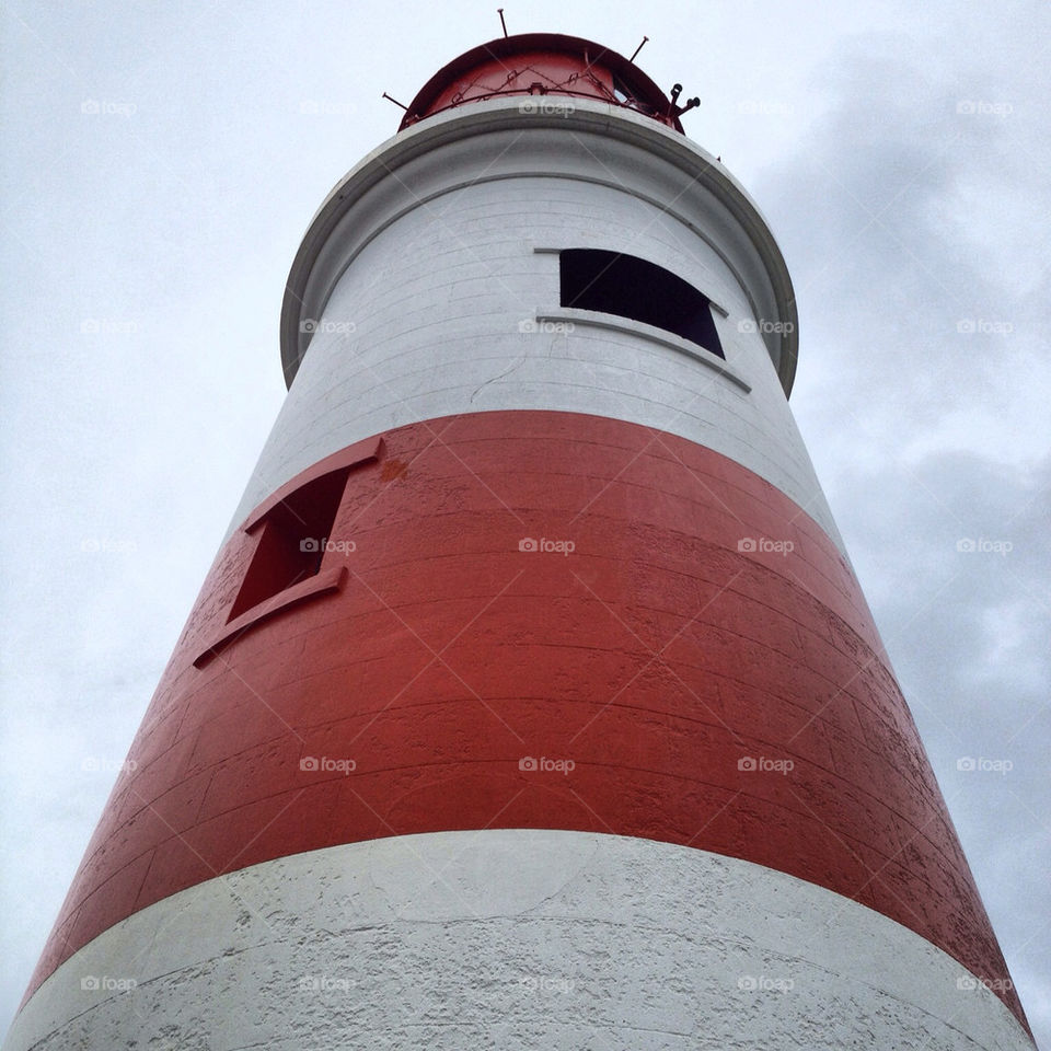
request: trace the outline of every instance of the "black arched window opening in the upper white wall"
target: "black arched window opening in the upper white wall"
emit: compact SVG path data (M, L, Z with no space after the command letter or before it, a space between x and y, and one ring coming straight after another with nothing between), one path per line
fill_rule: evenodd
M642 321L725 358L708 298L670 270L597 249L566 249L558 259L563 307Z

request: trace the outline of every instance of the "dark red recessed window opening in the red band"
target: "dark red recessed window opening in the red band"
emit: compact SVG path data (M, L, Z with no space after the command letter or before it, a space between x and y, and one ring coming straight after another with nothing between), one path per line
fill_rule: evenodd
M343 467L308 482L254 527L261 535L228 623L317 575L349 473Z

